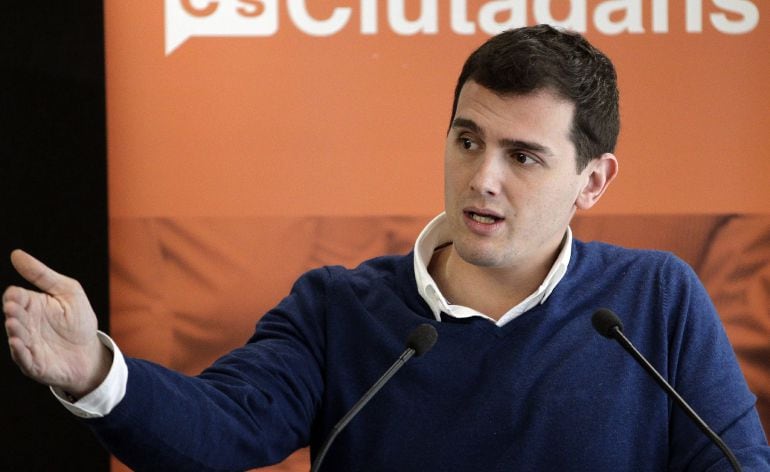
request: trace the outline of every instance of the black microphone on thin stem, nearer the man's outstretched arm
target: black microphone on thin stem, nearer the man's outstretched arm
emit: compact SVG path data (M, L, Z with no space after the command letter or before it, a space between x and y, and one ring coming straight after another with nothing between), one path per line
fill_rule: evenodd
M361 397L361 399L358 400L355 405L353 405L353 408L351 408L350 411L348 411L347 414L343 416L336 425L334 425L331 433L329 434L329 437L326 438L323 447L321 447L318 456L313 461L313 466L310 468L311 472L318 472L319 468L321 467L321 462L323 461L324 456L326 456L326 453L329 451L332 442L334 442L334 439L337 437L340 431L342 431L342 429L345 428L348 423L350 423L350 420L352 420L353 417L356 416L364 406L366 406L369 400L371 400L372 397L380 391L383 385L385 385L388 380L390 380L390 378L393 377L396 372L398 372L398 370L406 363L406 361L411 359L412 356L419 357L430 351L433 345L436 344L437 338L438 333L436 332L436 328L429 325L428 323L419 325L413 329L411 333L409 333L409 337L406 340L406 350L404 350L401 356L396 359L396 362L390 366L390 369L388 369L382 375L382 377L380 377L380 379L375 382L374 385L372 385L372 387L364 394L364 396Z

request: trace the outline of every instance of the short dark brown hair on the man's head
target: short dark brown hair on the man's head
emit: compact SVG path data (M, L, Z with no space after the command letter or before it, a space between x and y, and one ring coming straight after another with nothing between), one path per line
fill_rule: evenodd
M537 25L490 38L465 61L455 87L450 128L460 90L469 80L500 95L549 89L573 102L570 137L578 172L591 159L615 150L620 132L615 68L578 33Z

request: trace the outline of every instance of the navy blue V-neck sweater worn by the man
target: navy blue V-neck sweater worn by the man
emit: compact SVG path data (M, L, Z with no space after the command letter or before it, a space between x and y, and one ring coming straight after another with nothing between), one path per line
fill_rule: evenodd
M755 397L692 270L661 252L575 241L550 298L503 327L435 321L413 256L302 276L244 347L190 378L127 359L125 398L87 420L136 470L243 470L330 429L429 322L411 360L338 436L327 471L731 470L591 315L625 332L734 450L770 470ZM711 468L709 468L711 467Z

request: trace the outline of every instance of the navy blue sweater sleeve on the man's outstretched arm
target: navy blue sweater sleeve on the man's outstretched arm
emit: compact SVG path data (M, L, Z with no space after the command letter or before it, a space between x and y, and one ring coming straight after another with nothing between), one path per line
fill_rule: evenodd
M196 377L127 358L123 400L85 420L134 470L245 470L305 446L323 393L325 269L301 277L249 342Z

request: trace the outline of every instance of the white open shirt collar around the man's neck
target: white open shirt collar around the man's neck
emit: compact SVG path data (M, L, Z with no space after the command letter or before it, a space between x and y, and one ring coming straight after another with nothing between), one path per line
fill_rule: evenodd
M493 321L497 326L503 326L512 319L530 310L540 303L544 303L553 289L561 281L567 272L570 257L572 256L572 230L567 227L567 234L564 238L561 251L556 257L551 270L545 276L543 283L531 295L522 300L518 305L508 310L499 320L494 320L484 313L478 312L472 308L462 305L453 305L447 301L441 290L436 285L436 281L428 273L428 264L433 257L433 252L448 243L449 228L446 222L446 213L441 213L434 218L425 229L414 245L414 277L417 280L417 291L433 311L436 320L441 321L441 313L446 313L455 318L468 318L471 316L481 316Z

